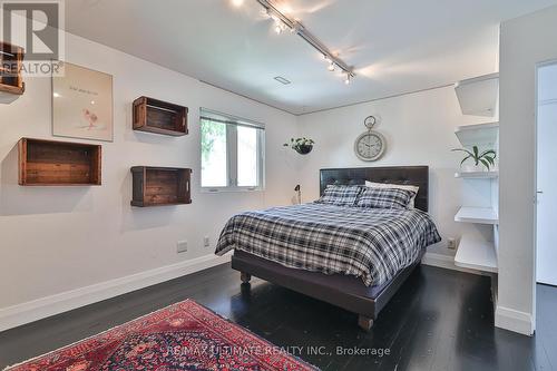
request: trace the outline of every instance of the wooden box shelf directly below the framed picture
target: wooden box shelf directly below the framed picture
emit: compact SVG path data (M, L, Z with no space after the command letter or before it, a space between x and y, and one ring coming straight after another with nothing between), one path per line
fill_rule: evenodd
M18 147L22 186L100 185L99 145L22 138Z

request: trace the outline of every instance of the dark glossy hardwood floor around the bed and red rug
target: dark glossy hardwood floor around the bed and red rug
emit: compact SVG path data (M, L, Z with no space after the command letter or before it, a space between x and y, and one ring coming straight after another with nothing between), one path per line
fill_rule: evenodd
M489 277L422 266L365 333L355 314L295 292L257 279L241 289L228 265L2 332L0 369L187 297L276 345L303 346L296 355L322 370L557 369L555 287L538 286L538 330L528 338L494 328ZM336 354L338 346L389 354Z

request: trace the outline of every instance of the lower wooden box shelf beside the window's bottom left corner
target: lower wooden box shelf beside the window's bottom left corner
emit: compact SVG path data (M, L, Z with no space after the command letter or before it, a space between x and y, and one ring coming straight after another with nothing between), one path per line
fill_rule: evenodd
M131 206L185 205L192 203L192 169L178 167L131 167Z

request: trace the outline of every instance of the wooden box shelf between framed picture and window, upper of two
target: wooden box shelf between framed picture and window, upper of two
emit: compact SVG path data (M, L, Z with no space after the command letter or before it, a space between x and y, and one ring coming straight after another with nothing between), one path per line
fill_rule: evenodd
M140 97L134 101L134 130L183 136L187 134L187 107Z

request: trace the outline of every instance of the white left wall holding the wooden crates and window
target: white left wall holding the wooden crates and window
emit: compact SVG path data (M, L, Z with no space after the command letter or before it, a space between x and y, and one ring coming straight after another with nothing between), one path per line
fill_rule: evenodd
M52 138L50 80L28 78L20 99L0 105L0 314L39 297L211 255L234 213L291 203L297 158L282 143L296 134L294 116L71 35L66 57L114 76L115 140L102 143L100 187L20 187L17 141ZM189 135L133 131L131 101L143 95L189 107ZM266 124L265 192L199 192L199 107ZM130 207L134 165L193 168L193 204ZM205 235L212 247L203 247ZM189 251L178 255L176 242L183 240Z

